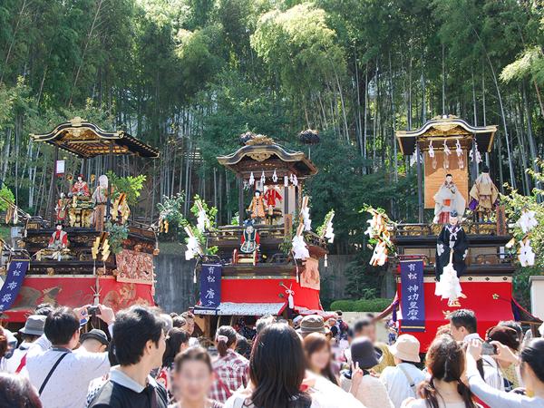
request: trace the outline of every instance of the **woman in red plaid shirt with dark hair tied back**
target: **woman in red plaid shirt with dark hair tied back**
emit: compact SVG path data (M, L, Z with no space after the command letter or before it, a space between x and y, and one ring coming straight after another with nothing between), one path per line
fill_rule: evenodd
M210 397L219 403L228 398L242 386L248 384L248 359L235 352L237 333L229 325L222 325L216 333L219 358L213 363L214 382Z

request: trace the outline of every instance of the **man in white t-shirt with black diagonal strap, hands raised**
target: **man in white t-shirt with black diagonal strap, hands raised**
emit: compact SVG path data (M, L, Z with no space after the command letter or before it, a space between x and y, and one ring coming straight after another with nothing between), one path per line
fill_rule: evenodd
M99 308L101 313L97 316L112 325L112 309L102 305ZM79 344L80 322L85 320L86 310L87 306L54 310L44 325L44 334L52 347L44 351L43 345L36 345L28 352L26 372L44 408L83 407L91 381L110 370L107 353L89 353L83 347L73 351Z

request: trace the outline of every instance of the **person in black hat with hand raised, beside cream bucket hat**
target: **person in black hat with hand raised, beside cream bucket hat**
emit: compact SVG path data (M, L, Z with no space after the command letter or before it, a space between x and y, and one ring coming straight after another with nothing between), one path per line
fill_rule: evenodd
M372 340L357 337L350 346L351 368L340 374L340 386L353 393L355 398L366 408L393 408L382 382L370 374L372 367L378 364L378 353Z

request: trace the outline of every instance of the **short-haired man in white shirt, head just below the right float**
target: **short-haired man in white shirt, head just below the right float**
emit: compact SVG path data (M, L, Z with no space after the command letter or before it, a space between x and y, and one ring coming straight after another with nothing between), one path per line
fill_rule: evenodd
M471 343L471 340L480 340L480 335L476 331L476 315L469 309L459 309L448 316L450 319L450 330L455 341ZM483 368L483 379L486 384L497 390L504 391L504 378L500 374L499 365L491 355L482 355L481 364Z

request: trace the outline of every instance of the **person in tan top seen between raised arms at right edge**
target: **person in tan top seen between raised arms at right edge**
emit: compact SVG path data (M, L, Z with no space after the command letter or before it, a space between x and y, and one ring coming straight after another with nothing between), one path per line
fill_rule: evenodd
M505 325L495 325L487 331L486 340L488 342L499 342L506 345L514 355L520 352L520 337L515 329ZM504 379L504 391L511 391L521 386L520 372L516 369L516 364L510 361L496 359L500 374Z

